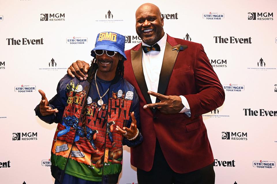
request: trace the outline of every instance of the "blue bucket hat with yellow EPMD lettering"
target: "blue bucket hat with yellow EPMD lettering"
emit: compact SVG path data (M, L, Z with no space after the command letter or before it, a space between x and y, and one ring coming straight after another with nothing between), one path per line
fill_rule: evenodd
M97 35L95 48L91 51L91 56L96 57L94 50L116 51L127 60L124 53L125 37L115 32L101 32Z

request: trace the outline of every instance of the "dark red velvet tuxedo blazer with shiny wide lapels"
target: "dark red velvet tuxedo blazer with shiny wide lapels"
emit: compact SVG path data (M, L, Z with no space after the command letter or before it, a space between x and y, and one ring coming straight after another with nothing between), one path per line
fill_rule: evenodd
M185 50L174 48L186 45ZM142 68L142 45L125 51L124 77L139 95L143 142L131 148L131 164L149 171L152 168L156 137L169 166L177 173L188 173L214 162L202 114L220 107L225 93L203 46L167 35L158 93L184 95L191 118L184 113L162 114L143 109L150 104Z

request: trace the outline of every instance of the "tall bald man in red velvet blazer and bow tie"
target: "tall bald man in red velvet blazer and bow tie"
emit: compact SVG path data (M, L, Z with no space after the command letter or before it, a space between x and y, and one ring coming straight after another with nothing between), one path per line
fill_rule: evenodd
M143 43L125 51L124 77L139 95L144 138L131 148L131 164L142 184L212 184L214 157L202 114L223 104L224 90L203 46L170 37L163 25L157 6L141 5L136 32ZM68 74L85 79L87 69L77 61Z

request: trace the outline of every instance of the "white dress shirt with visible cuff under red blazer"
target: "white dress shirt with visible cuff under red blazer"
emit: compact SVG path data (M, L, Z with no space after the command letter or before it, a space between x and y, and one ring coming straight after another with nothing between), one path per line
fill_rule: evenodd
M148 90L154 91L157 93L160 73L162 69L162 60L164 58L164 50L166 45L167 34L164 33L164 36L157 42L161 48L161 51L149 51L144 53L142 51L142 67L143 67L143 74L145 78L145 82L147 85ZM142 45L147 45L146 43L142 42ZM182 99L182 104L185 106L180 113L189 112L190 106L188 105L188 101L186 97L180 96ZM156 97L150 95L152 103L156 103Z

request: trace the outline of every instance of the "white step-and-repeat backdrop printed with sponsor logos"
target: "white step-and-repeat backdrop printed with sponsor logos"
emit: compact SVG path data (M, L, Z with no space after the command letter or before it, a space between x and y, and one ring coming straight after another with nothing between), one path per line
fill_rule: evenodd
M145 2L0 1L0 183L54 183L57 124L35 116L38 89L51 99L72 62L90 63L99 32L125 35L126 49L140 43L135 11ZM166 33L203 44L224 87L224 105L203 115L216 183L276 183L276 1L151 3L160 7ZM123 154L119 183L137 183L130 149Z

